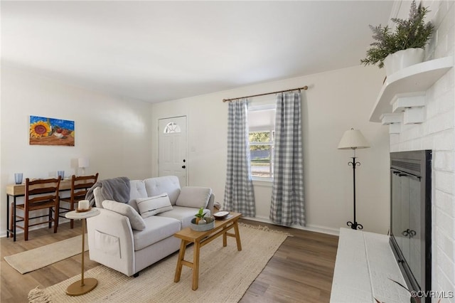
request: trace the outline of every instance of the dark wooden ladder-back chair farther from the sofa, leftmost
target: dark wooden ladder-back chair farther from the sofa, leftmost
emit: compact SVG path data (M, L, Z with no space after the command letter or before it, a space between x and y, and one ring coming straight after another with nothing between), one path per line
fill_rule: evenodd
M44 223L49 224L49 228L52 227L54 223L54 233L57 233L58 228L58 187L60 186L60 176L58 179L38 179L30 181L26 179L26 188L25 188L25 197L23 199L23 204L17 204L16 210L20 210L23 213L23 216L18 214L16 211L16 228L21 228L23 230L23 239L28 240L28 228L35 225L40 225ZM31 217L32 211L39 211L42 209L48 208L49 213L47 215ZM48 217L48 220L39 220L35 222L38 218ZM18 225L18 222L23 222L23 225ZM14 230L16 233L16 230Z

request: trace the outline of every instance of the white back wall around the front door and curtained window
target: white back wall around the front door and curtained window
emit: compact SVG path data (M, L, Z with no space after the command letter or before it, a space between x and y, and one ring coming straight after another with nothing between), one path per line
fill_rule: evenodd
M338 150L343 132L361 129L371 144L357 152L357 220L364 230L387 233L389 220L388 131L368 122L384 80L383 70L356 66L328 73L291 78L235 90L188 97L152 105L152 123L158 119L188 117L188 181L210 186L215 201L223 203L226 167L228 105L224 98L309 85L302 92L304 186L307 228L338 233L353 220L351 151ZM152 166L158 174L158 137L152 136ZM271 188L255 183L257 219L268 220Z

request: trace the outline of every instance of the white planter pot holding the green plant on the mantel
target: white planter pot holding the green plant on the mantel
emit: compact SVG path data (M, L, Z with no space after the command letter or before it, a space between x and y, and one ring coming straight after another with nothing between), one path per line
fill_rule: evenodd
M422 63L424 60L423 48L408 48L407 50L398 50L395 53L387 55L384 59L385 75L390 76L392 73L407 68L408 66Z

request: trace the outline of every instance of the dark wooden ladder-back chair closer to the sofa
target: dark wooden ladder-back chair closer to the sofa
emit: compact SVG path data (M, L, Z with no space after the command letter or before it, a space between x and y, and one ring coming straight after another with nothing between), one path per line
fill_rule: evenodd
M74 211L75 207L77 208L77 203L85 200L87 191L97 183L97 179L98 173L93 176L71 176L71 193L68 198L60 198L59 216L65 218L65 213ZM73 219L70 220L70 228L74 228Z

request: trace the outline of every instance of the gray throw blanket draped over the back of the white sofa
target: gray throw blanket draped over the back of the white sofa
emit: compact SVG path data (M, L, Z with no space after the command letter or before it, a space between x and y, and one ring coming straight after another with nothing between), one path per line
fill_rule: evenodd
M127 203L129 201L130 184L127 177L118 177L114 179L105 179L93 184L92 188L87 191L85 199L90 201L90 206L95 205L95 196L93 190L101 187L102 196L106 200Z

